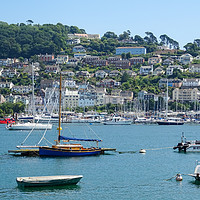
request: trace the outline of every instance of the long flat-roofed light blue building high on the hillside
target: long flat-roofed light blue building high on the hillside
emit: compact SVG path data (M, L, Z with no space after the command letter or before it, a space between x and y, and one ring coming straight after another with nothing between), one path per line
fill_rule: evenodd
M130 53L132 55L146 54L145 47L117 47L116 55L121 55L122 53Z

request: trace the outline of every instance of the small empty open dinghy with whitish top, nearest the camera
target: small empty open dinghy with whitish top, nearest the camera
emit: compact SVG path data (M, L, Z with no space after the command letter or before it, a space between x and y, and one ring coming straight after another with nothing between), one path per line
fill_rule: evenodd
M20 187L76 185L82 177L82 175L17 177L16 181Z

